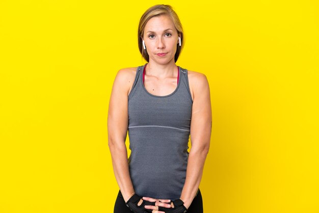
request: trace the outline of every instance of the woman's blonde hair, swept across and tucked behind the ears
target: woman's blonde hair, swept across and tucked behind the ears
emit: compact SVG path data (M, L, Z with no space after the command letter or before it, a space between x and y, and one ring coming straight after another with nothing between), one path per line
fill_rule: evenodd
M142 57L149 62L149 57L147 54L146 49L143 48L143 34L144 34L144 29L145 29L145 25L146 23L149 21L149 19L151 19L154 16L159 16L159 15L168 15L169 17L172 18L172 21L175 25L175 28L177 30L177 33L180 37L180 41L181 41L181 46L179 46L179 44L177 44L177 49L176 49L176 53L175 53L175 57L174 60L175 62L177 61L180 52L182 50L182 48L184 47L184 33L183 33L183 28L181 25L181 22L176 14L176 12L173 10L172 6L170 5L154 5L150 8L148 8L144 14L142 15L141 19L140 19L140 23L139 23L139 28L138 28L138 44L139 44L139 50L142 54Z

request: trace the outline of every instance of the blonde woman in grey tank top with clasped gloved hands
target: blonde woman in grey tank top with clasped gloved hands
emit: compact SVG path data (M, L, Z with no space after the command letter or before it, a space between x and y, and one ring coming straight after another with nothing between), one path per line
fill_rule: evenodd
M169 5L142 15L138 44L148 63L118 71L109 104L109 147L120 188L114 212L203 212L199 184L211 132L207 78L176 66L183 30Z

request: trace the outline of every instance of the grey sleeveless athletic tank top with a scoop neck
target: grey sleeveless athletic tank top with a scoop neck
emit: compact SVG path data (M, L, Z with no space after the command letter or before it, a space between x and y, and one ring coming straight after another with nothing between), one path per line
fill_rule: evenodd
M178 66L176 89L149 93L143 84L147 64L137 68L128 95L129 173L136 194L180 198L186 178L193 100L188 70Z

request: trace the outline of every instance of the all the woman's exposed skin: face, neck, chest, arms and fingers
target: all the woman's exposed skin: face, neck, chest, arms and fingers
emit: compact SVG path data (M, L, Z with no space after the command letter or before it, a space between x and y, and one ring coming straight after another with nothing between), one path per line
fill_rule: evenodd
M164 96L176 89L178 68L174 62L174 55L178 36L173 21L167 15L155 16L145 26L143 39L149 55L149 63L145 70L144 85L151 94ZM160 57L157 55L159 52L165 52L166 55ZM125 139L128 127L127 97L134 83L136 71L137 67L123 68L118 71L109 103L108 143L114 174L125 202L135 193L129 176ZM202 73L190 70L188 77L193 99L190 133L192 148L180 196L186 208L189 208L198 190L211 134L211 104L207 78ZM165 213L158 211L158 206L171 207L168 204L170 200L149 197L143 197L143 199L157 201L155 206L145 206L145 208L153 209L153 213ZM142 199L139 204L141 203Z

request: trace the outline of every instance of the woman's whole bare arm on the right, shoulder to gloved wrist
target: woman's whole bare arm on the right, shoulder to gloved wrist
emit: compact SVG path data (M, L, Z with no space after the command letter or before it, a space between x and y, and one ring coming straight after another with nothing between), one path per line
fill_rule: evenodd
M190 85L194 94L191 143L186 179L180 199L189 208L199 188L204 163L209 150L211 135L211 104L207 78L204 74L193 72Z

